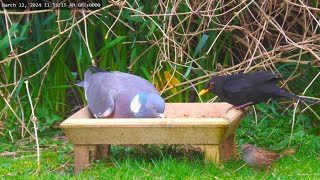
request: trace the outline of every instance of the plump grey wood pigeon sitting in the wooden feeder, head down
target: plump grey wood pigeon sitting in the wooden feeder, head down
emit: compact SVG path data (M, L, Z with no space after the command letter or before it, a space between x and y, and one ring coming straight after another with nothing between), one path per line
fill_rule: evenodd
M164 100L149 81L139 76L90 67L84 81L74 84L84 87L89 109L96 118L164 117Z

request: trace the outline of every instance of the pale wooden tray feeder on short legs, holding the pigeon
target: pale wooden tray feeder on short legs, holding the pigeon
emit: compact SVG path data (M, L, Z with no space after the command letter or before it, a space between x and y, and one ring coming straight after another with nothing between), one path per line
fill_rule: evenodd
M243 112L227 103L167 103L164 119L95 119L87 107L61 123L74 144L74 172L92 158L109 157L110 144L194 144L206 161L218 164L236 156L235 130Z

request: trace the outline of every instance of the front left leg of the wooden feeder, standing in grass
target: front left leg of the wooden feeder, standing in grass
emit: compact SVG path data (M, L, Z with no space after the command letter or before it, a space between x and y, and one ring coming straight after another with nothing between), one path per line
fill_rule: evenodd
M74 145L74 174L78 174L90 165L89 145Z

